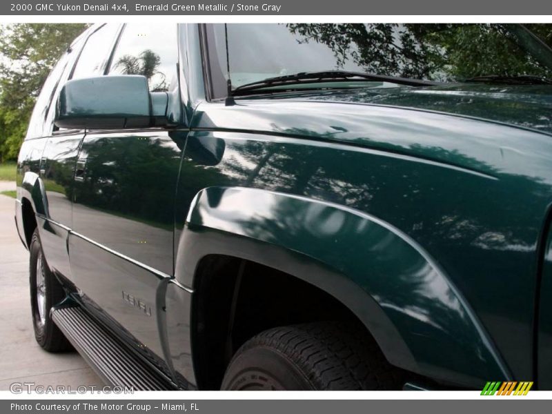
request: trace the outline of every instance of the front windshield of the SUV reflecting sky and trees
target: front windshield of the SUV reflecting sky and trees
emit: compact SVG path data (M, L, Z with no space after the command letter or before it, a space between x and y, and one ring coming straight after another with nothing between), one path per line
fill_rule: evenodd
M211 72L227 80L229 69L233 88L324 70L437 82L552 78L551 50L542 43L552 44L546 24L215 24L209 30L209 48L216 50Z

